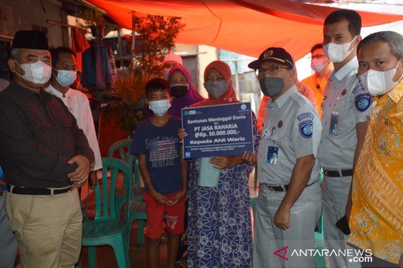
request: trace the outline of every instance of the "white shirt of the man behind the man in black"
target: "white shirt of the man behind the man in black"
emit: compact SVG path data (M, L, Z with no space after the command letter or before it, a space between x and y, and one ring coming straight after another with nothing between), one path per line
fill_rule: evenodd
M91 170L97 170L102 168L101 152L99 151L99 145L97 135L95 133L94 120L91 114L90 102L87 96L83 93L69 88L69 90L63 94L56 90L51 84L45 88L45 91L60 98L64 105L69 108L70 113L74 115L77 121L77 125L84 131L87 137L90 148L94 152L95 161L91 166Z

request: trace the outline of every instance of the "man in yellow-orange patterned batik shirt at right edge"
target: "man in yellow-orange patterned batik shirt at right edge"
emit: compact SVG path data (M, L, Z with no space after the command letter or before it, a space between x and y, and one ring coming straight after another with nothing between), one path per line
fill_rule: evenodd
M371 250L373 260L363 267L403 267L403 36L371 34L357 53L375 106L346 206L349 242Z

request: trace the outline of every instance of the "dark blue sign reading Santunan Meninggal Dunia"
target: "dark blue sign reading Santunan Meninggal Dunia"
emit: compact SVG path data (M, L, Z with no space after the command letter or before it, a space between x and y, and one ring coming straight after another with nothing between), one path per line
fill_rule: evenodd
M184 158L241 155L253 152L250 103L182 109Z

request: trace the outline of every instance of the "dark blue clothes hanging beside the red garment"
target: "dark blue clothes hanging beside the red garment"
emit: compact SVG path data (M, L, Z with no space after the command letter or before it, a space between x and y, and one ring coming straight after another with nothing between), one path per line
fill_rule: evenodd
M112 82L108 50L102 41L91 40L90 45L90 49L83 53L82 84L85 87L95 85L98 90L105 90Z

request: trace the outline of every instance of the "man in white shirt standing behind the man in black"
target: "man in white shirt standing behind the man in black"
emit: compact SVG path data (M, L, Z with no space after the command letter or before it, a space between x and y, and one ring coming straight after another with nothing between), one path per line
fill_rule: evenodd
M87 96L70 88L77 77L76 55L70 48L66 47L50 49L50 54L52 57L52 79L45 91L60 98L64 105L69 108L70 113L77 120L77 125L84 131L94 152L95 161L91 166L91 171L101 169L101 152L95 133L90 103ZM89 185L95 186L97 182L96 172L90 172L90 176Z

